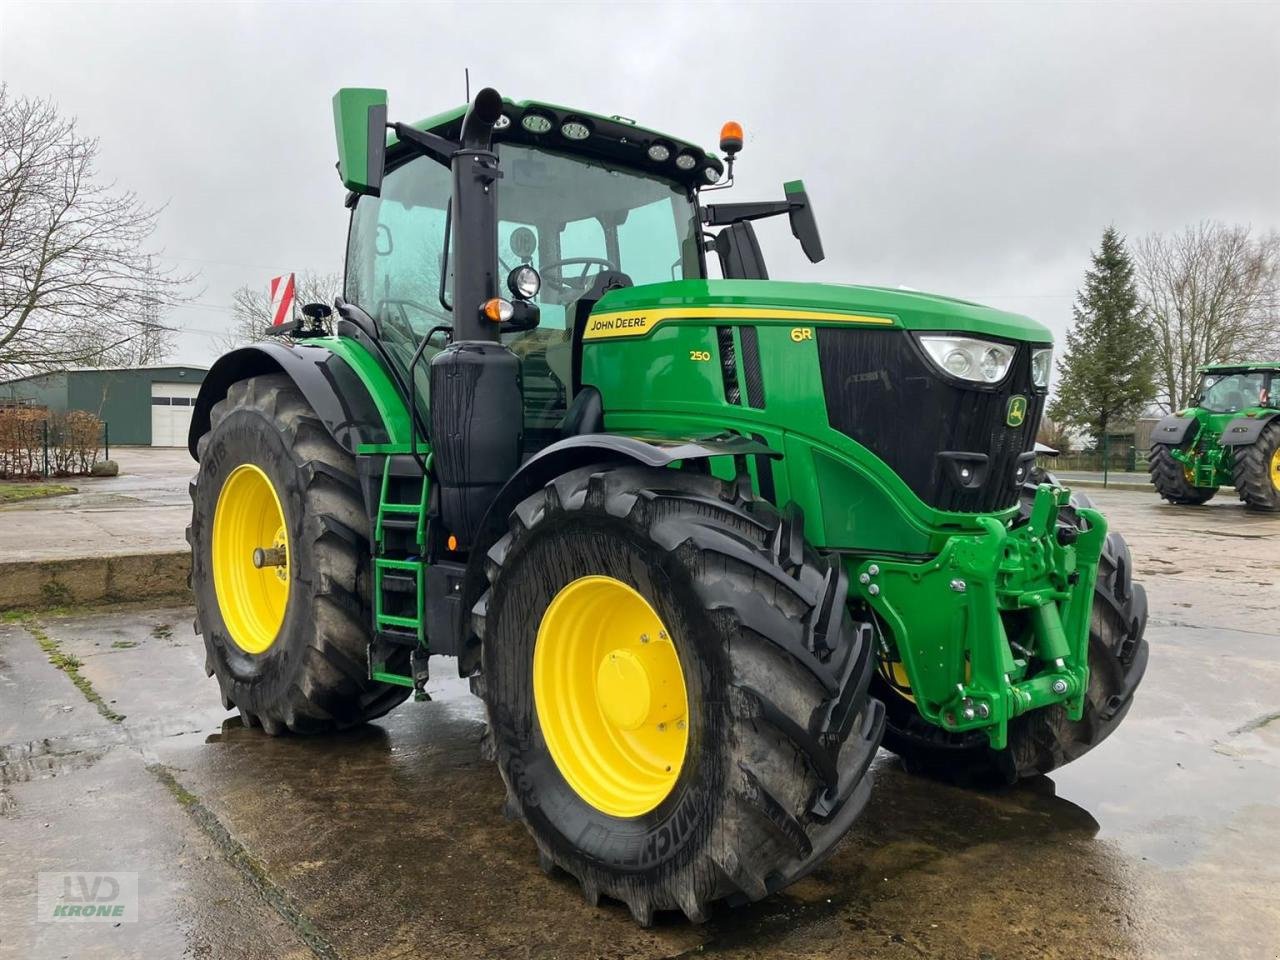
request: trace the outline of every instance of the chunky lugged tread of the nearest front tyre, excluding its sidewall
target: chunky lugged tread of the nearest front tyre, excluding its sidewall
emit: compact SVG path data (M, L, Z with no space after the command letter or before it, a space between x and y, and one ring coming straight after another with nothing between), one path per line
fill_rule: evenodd
M780 513L764 500L746 498L741 484L632 466L570 471L512 511L508 532L488 554L490 589L472 617L479 636L492 634L502 617L495 590L529 541L584 515L621 521L664 550L673 566L691 571L712 622L722 636L737 637L724 649L736 774L724 785L717 820L723 826L678 868L643 883L620 876L563 840L548 844L538 836L512 783L499 736L507 809L559 868L579 879L589 902L600 893L621 900L641 924L650 923L655 910L680 910L700 922L716 900L759 900L804 876L865 803L863 773L882 732L879 704L867 694L874 668L870 637L855 630L844 603L828 603L846 581L837 559L818 556L803 538L796 547L795 531L803 529L797 511ZM818 649L815 634L824 637ZM838 713L833 704L850 695L859 698L852 713L864 722L828 728L828 718ZM495 705L486 699L486 707L497 728ZM847 774L850 769L856 777ZM849 782L837 772L846 772ZM837 806L842 813L828 824L813 813L814 799L836 790L846 790L851 799Z

